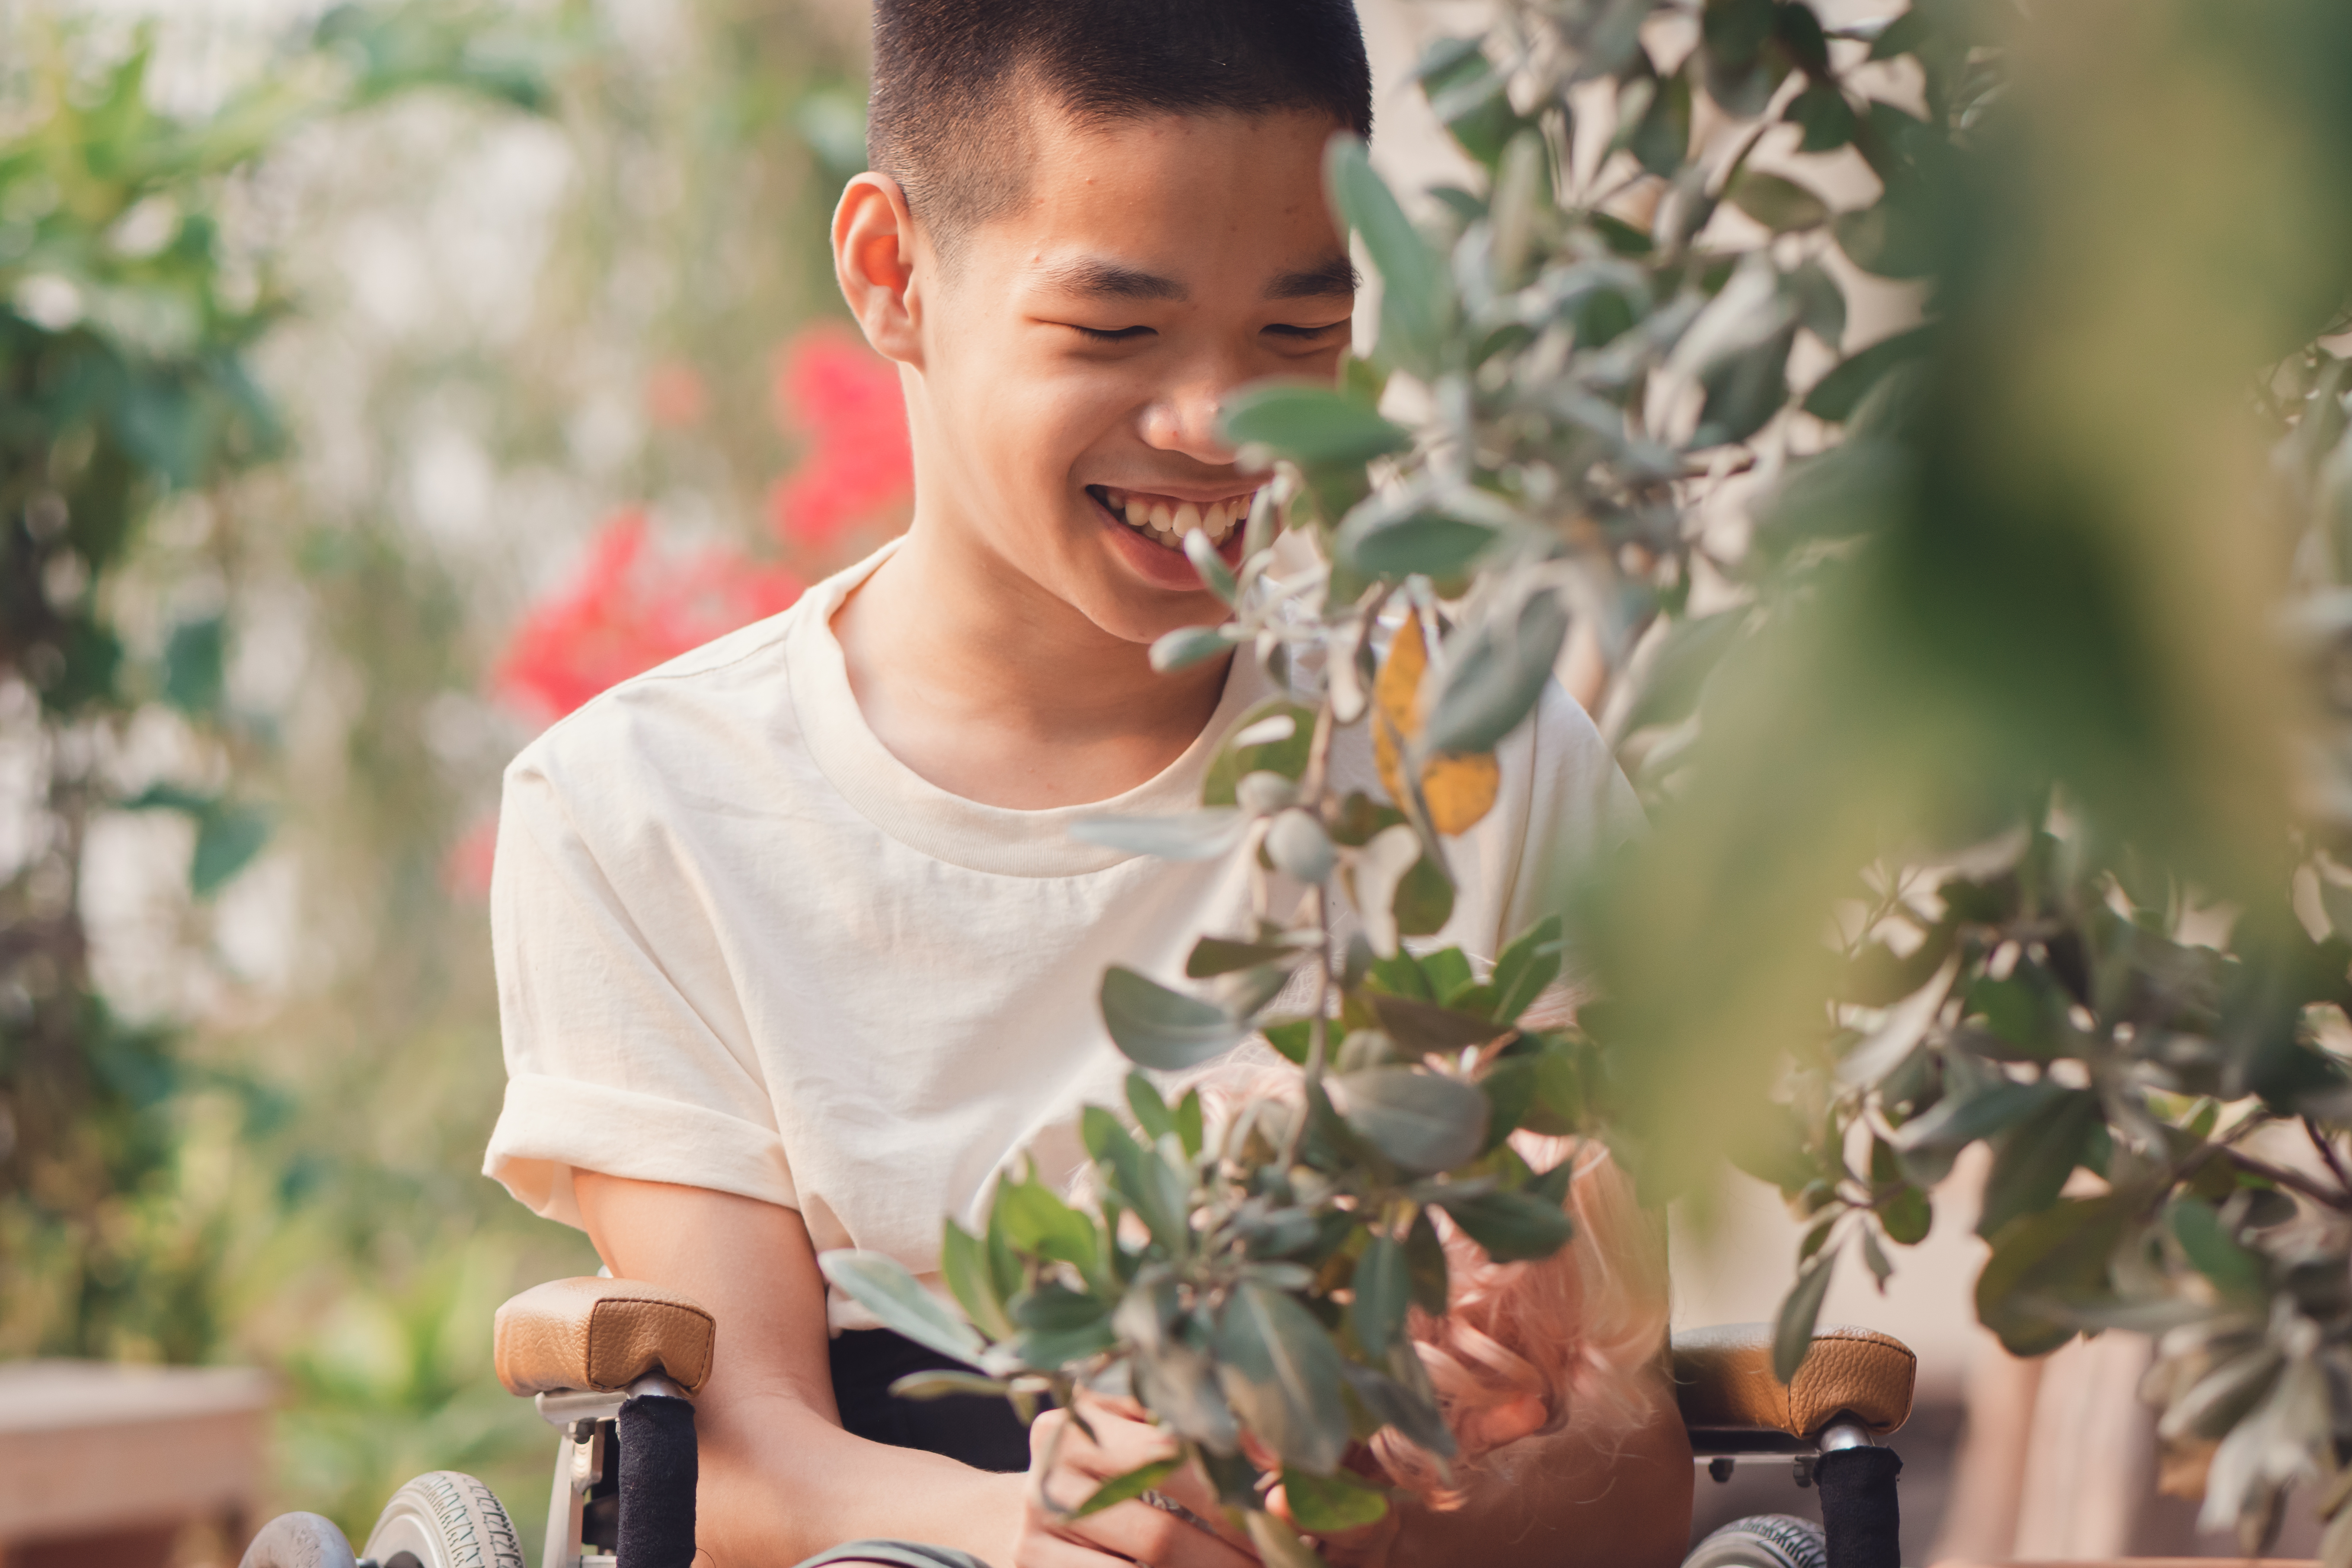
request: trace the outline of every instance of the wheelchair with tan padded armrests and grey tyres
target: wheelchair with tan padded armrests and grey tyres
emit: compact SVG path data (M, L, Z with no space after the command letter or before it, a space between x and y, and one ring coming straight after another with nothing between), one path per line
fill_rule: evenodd
M496 1371L560 1434L539 1568L689 1568L694 1394L710 1378L713 1316L659 1286L557 1279L499 1307ZM1675 1335L1675 1396L1691 1450L1717 1481L1736 1465L1788 1465L1820 1488L1823 1523L1740 1519L1684 1568L1900 1568L1896 1455L1917 1359L1867 1328L1820 1328L1797 1380L1771 1375L1771 1328ZM240 1568L527 1568L506 1509L473 1476L416 1476L383 1507L360 1554L318 1514L280 1514ZM779 1566L781 1568L781 1566Z

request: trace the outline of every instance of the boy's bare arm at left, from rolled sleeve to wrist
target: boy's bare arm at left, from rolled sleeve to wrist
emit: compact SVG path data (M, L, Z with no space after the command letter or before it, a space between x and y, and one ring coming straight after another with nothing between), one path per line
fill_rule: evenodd
M694 1401L696 1540L713 1561L797 1563L884 1535L1004 1561L1023 1476L842 1432L826 1281L797 1213L590 1171L574 1171L574 1192L614 1274L684 1291L717 1316L710 1382Z

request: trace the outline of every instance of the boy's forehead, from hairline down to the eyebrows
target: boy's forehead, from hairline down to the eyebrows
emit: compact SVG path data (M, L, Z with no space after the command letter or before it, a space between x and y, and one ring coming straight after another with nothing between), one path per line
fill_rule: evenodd
M1334 299L1355 268L1331 219L1315 113L1030 113L1028 193L988 228L1023 287L1183 301L1197 287Z

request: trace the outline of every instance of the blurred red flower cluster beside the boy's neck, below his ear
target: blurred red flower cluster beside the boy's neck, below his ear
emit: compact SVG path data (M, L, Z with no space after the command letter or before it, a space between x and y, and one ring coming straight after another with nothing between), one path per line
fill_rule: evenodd
M898 369L849 329L807 327L776 353L776 423L807 440L767 498L786 541L821 550L915 494Z

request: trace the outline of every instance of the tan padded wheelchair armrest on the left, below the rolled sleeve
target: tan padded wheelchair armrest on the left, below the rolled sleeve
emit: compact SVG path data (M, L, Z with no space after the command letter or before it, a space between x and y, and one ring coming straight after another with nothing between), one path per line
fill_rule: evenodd
M715 1338L717 1321L677 1291L553 1279L499 1307L494 1361L508 1394L609 1394L649 1373L694 1394Z

